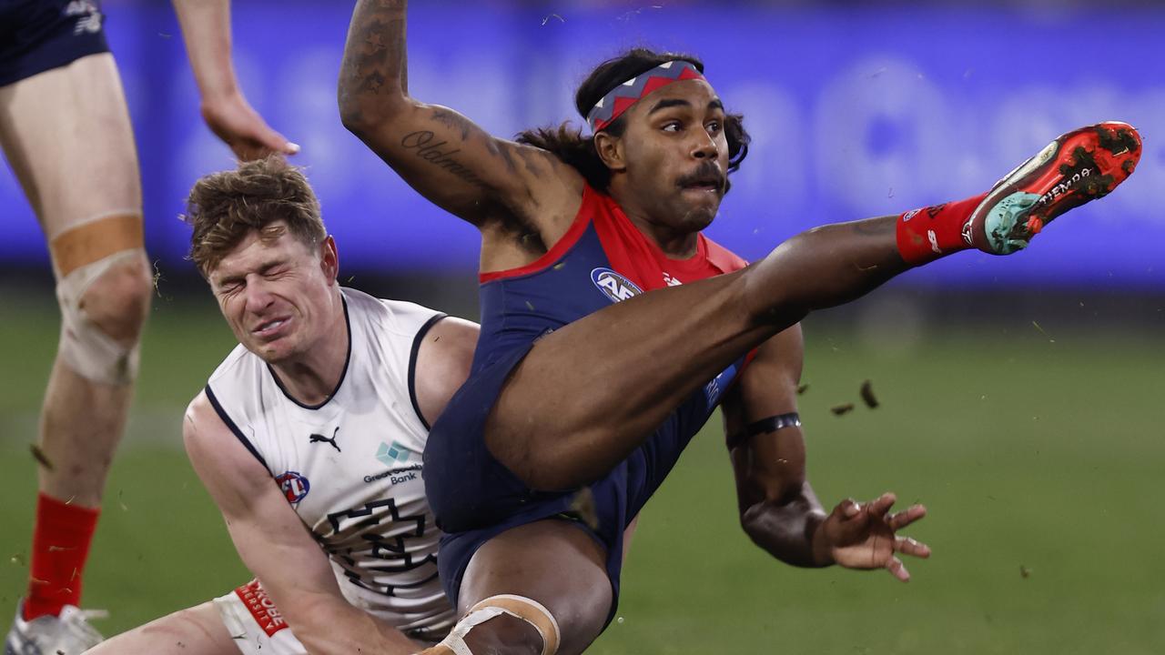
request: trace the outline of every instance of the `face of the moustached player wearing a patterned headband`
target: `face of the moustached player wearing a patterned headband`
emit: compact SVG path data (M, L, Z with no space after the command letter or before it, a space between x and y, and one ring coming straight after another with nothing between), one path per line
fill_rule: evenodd
M696 232L707 227L727 186L725 110L702 79L669 84L624 114L627 188L654 219Z

